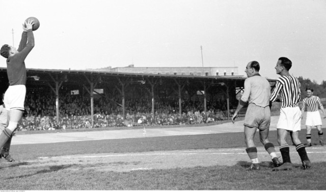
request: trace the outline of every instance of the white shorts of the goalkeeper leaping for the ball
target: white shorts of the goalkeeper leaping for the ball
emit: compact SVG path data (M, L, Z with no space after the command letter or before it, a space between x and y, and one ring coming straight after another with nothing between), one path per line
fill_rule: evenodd
M9 86L5 93L4 103L7 111L13 109L24 110L24 102L26 95L25 85Z

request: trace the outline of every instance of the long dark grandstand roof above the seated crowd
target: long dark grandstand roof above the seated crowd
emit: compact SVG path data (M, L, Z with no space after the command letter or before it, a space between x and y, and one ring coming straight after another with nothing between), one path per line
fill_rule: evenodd
M246 77L239 76L190 76L190 75L167 75L167 74L140 74L140 73L121 73L121 72L103 72L88 70L55 70L55 69L26 69L27 85L47 85L55 81L63 81L67 86L84 85L89 82L103 82L104 84L117 85L119 79L126 81L144 81L148 79L162 79L166 83L174 83L174 80L197 84L202 82L214 83L235 83L242 87ZM274 79L267 79L274 82ZM8 82L7 68L0 68L0 81ZM232 83L232 84L233 84ZM3 84L3 83L2 83Z

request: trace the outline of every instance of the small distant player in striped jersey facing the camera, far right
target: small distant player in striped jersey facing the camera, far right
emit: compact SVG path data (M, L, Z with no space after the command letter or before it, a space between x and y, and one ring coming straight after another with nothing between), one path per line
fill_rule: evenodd
M319 97L313 95L314 90L312 88L307 88L306 93L307 93L307 98L305 98L303 100L303 107L301 109L301 112L302 112L302 114L304 114L305 109L307 107L307 118L306 118L306 127L307 127L306 138L307 138L307 142L308 142L307 146L308 147L311 146L311 128L313 126L317 127L319 143L321 146L323 146L324 145L323 133L321 130L321 118L320 118L320 113L318 110L318 105L324 114L324 118L326 118L326 114L325 114L324 108L320 102Z

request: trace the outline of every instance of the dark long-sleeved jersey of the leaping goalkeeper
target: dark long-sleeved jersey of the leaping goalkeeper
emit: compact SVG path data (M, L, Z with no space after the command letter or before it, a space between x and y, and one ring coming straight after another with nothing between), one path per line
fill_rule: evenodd
M27 40L29 41L27 44ZM26 84L26 67L25 58L34 47L34 35L32 29L27 32L23 31L18 47L18 53L7 59L7 75L9 85Z

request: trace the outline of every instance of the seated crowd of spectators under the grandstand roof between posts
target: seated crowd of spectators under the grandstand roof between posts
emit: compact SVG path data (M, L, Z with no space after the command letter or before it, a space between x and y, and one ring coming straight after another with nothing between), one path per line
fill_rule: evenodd
M204 112L203 101L182 100L182 114L179 114L179 102L171 98L155 99L155 115L152 116L151 99L126 100L126 118L122 107L112 99L94 98L94 128L118 126L155 126L200 124L226 119L225 106L218 102L207 102ZM56 97L44 91L26 94L25 109L28 116L19 123L19 131L56 130L56 129L91 129L90 96L85 94L61 94L59 97L60 120L56 117Z

